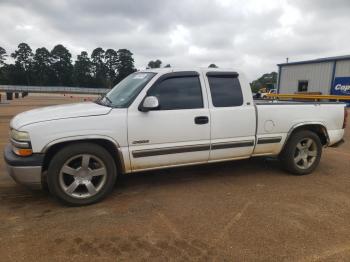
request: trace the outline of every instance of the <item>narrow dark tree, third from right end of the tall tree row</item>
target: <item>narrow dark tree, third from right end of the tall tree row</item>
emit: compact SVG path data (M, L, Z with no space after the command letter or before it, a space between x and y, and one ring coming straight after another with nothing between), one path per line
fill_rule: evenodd
M94 85L97 87L106 87L107 69L104 62L105 51L101 48L95 48L91 53L91 62L93 68Z

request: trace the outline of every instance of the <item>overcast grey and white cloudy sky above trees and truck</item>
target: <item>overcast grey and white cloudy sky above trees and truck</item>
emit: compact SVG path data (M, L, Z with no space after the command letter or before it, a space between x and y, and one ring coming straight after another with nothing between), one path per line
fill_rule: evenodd
M350 0L0 0L0 46L127 48L137 68L232 67L350 54Z

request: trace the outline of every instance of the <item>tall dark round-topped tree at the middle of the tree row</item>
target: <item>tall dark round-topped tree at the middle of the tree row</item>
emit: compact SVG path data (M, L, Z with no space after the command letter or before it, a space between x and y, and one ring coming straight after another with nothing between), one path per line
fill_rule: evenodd
M52 70L55 75L55 85L69 86L72 84L72 55L63 45L56 45L51 50Z

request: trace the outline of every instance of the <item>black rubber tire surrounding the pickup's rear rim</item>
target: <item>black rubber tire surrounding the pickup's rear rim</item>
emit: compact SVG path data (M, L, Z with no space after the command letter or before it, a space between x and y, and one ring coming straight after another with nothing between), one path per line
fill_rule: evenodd
M301 152L303 150L300 150L297 146L300 147L302 145L303 141L313 141L313 150L307 151L313 154L313 156L307 156L307 152ZM299 144L300 143L300 144ZM306 145L305 145L306 147ZM306 149L304 149L306 150ZM314 156L314 152L317 152L317 155ZM300 159L300 162L296 163L299 159L299 155L303 154L304 159L309 161L307 164L305 164L304 167L304 161L303 159ZM305 158L306 155L306 158ZM312 173L316 167L318 166L320 159L322 155L322 144L320 141L319 136L309 130L300 130L292 134L290 139L287 141L287 144L285 145L282 153L280 154L280 160L282 163L282 168L285 169L287 172L293 174L293 175L307 175ZM310 166L309 166L310 165ZM300 166L303 166L302 168Z

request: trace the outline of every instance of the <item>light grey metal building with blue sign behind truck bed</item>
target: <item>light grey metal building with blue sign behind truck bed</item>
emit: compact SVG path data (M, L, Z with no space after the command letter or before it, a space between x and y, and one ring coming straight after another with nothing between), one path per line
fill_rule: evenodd
M278 93L350 95L350 55L278 65Z

